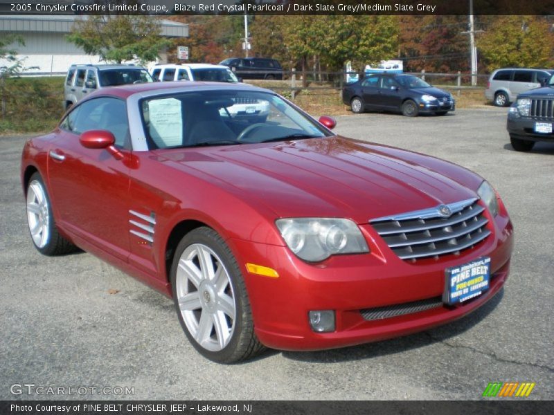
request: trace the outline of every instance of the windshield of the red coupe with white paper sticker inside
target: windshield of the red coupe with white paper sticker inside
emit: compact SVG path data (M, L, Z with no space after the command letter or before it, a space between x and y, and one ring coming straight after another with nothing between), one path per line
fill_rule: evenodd
M288 104L259 91L190 91L139 103L149 147L240 145L331 136Z

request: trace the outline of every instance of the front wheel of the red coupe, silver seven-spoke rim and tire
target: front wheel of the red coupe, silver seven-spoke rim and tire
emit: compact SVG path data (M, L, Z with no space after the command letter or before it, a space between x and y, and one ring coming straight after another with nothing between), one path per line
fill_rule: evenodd
M171 267L171 285L179 322L202 356L234 363L263 349L254 333L240 268L213 229L197 228L181 239Z

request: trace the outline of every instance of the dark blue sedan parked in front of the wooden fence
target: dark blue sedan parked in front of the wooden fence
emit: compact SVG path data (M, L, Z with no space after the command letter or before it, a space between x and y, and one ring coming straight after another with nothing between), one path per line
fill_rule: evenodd
M444 116L456 109L452 95L434 88L417 76L396 73L372 73L346 84L342 100L353 113L370 111L401 112L407 117L420 113Z

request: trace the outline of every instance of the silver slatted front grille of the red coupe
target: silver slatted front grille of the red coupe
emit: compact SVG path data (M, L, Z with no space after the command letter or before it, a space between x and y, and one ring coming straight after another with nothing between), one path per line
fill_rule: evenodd
M400 259L459 255L490 234L485 208L469 199L436 208L373 219L370 224ZM441 217L441 208L451 213Z

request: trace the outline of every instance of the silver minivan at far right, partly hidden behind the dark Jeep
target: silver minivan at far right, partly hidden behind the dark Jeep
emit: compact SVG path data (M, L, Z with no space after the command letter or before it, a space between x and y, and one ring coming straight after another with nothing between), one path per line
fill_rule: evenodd
M551 69L501 68L490 74L485 98L497 107L507 107L519 93L546 84L554 71Z

